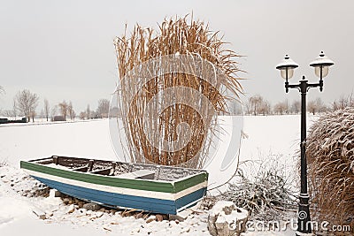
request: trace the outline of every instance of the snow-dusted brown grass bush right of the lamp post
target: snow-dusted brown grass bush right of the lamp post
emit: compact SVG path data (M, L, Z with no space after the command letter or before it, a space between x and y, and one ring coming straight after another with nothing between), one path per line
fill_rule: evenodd
M307 138L314 215L354 227L354 108L321 116Z

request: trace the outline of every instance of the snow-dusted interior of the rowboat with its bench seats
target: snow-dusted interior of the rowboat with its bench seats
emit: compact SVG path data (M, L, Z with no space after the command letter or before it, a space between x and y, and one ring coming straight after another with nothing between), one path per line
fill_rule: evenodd
M119 177L124 179L155 179L173 181L190 175L204 172L203 170L172 167L154 164L132 164L96 159L68 156L51 156L31 161L50 167L90 174Z

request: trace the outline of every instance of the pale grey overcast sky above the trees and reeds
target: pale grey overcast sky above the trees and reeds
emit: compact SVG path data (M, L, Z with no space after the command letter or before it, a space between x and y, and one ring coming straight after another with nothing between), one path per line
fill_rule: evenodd
M118 80L113 39L127 23L157 27L165 17L193 11L196 19L220 31L227 46L243 57L240 74L246 95L263 95L277 103L299 98L285 94L275 70L286 53L300 66L293 82L305 75L317 81L309 63L320 50L335 61L322 93L330 103L354 89L353 1L2 1L0 5L0 109L12 109L12 98L27 88L40 95L37 112L71 100L80 113L100 98L111 98Z

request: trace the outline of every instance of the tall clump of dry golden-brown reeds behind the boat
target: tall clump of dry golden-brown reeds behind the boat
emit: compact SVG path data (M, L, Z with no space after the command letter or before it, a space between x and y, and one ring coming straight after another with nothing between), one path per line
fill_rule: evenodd
M126 29L127 31L127 29ZM220 88L231 91L228 95L237 97L242 93L242 87L236 72L240 69L235 62L235 57L240 57L230 49L224 49L224 44L217 33L212 33L203 21L189 19L189 17L165 19L158 30L136 25L130 36L127 32L114 41L117 63L119 69L119 106L122 112L122 121L127 135L128 154L133 162L153 163L164 165L182 165L201 168L206 160L208 150L212 145L212 136L215 133L215 118L205 120L195 109L183 103L173 104L158 114L150 114L150 126L158 127L157 133L144 132L143 111L148 107L154 96L166 88L188 87L193 88L204 95L213 109L217 112L227 111L226 100L230 96L220 93ZM161 69L160 61L155 58L164 56L187 55L202 58L222 72L223 80L218 80L216 86L212 86L204 78L198 78L196 74L183 72L169 72L158 74ZM142 89L136 89L132 82L132 71L135 77L145 76L141 66L145 62L153 61L150 67L152 74L158 76L142 85ZM196 65L183 65L191 67ZM137 74L137 76L136 76ZM134 86L132 86L134 84ZM185 98L186 94L176 93L175 100ZM130 97L133 97L131 100ZM193 103L202 103L199 97L193 97ZM156 110L161 108L159 101L152 104ZM151 104L150 104L151 105ZM191 139L183 148L173 151L165 151L161 147L163 141L176 141L179 136L186 135L178 130L181 122L190 127ZM145 127L146 128L146 127ZM156 137L156 135L161 135ZM158 145L151 145L150 140L160 139ZM194 158L196 157L196 158Z

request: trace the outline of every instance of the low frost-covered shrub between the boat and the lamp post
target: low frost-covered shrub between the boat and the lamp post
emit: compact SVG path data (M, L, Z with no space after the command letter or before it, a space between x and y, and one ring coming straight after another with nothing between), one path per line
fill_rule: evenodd
M281 217L284 209L296 208L295 189L281 156L268 156L266 160L250 162L252 170L241 165L235 182L220 194L222 200L235 202L237 207L248 209L253 219L273 220ZM256 169L256 170L255 170Z

